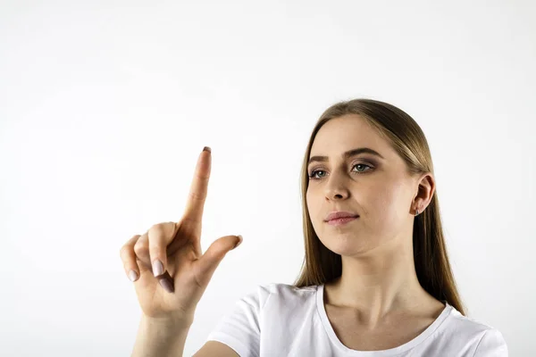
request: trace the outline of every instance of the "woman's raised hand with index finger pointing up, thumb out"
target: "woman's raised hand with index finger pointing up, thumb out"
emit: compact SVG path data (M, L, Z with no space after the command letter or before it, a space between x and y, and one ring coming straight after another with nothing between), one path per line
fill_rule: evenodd
M201 252L201 221L205 206L212 154L199 154L186 210L178 222L153 225L121 247L125 272L134 281L145 315L155 319L193 321L197 303L214 270L240 236L225 236Z

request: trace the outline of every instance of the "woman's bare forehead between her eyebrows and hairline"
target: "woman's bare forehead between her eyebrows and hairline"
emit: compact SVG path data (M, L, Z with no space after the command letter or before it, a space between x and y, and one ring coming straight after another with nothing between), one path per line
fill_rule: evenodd
M362 117L348 114L325 123L311 146L311 154L339 156L356 147L369 147L388 159L393 150L389 143Z

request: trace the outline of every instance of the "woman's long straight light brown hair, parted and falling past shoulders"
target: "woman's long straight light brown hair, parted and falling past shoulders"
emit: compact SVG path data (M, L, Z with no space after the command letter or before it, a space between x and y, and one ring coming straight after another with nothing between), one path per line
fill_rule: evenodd
M293 284L296 287L321 285L339 278L342 274L340 255L331 252L323 245L314 232L307 211L306 192L309 185L307 162L316 133L329 120L346 114L357 114L377 129L381 137L385 138L406 162L406 169L410 174L418 175L426 172L433 174L430 148L423 130L406 112L394 105L372 99L353 99L331 105L314 126L302 164L301 199L306 255L300 274ZM419 284L430 295L442 302L448 302L465 315L465 308L458 295L448 262L437 189L434 191L431 203L424 212L415 216L414 220L414 262Z

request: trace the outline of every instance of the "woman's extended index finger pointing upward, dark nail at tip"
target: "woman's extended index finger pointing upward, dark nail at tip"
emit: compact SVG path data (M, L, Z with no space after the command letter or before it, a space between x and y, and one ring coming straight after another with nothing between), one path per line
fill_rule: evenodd
M208 146L203 148L194 173L194 179L190 186L186 210L182 216L183 220L190 220L201 223L203 208L205 207L206 192L208 191L208 179L212 162L211 149Z

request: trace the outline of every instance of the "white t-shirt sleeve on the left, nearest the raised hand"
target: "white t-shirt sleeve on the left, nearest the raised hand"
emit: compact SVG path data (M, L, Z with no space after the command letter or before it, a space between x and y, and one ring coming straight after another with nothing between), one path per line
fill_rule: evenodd
M241 297L206 338L230 346L240 357L259 357L261 313L270 295L264 286Z

